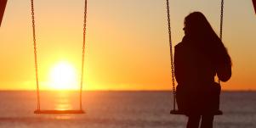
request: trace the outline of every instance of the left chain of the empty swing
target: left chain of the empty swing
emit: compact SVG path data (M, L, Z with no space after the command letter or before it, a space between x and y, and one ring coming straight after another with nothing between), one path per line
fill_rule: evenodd
M37 68L37 40L36 40L36 25L35 25L35 13L34 13L33 0L31 0L31 18L32 18L32 27L33 27L34 57L35 57L35 70L36 70L36 81L37 81L37 110L40 110L39 82L38 82L38 68Z

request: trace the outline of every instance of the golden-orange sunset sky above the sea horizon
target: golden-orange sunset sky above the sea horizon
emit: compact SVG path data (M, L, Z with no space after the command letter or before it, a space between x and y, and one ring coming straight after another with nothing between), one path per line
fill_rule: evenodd
M79 84L83 0L35 0L40 88L70 66ZM174 45L187 14L201 11L219 34L220 0L170 0ZM223 41L233 63L224 90L256 90L256 15L251 0L225 0ZM170 90L165 0L88 0L84 90ZM0 28L0 90L35 90L29 0L9 0ZM59 65L59 67L56 65ZM55 80L54 80L55 81ZM61 83L61 82L60 82ZM59 84L60 84L59 83Z

